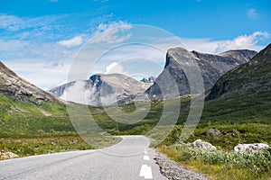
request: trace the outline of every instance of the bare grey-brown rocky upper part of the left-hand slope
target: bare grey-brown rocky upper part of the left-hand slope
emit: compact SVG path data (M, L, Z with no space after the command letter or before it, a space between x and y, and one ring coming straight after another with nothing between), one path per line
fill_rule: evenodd
M17 76L2 62L0 62L0 93L12 96L24 103L60 102L54 95Z

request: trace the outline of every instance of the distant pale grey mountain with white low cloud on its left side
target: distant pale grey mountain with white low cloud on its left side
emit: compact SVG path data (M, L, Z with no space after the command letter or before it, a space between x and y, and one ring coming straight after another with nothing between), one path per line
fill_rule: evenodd
M88 80L73 81L50 90L52 94L76 103L110 105L122 100L134 99L152 84L137 81L120 74L93 75ZM84 94L84 95L79 95ZM82 98L78 98L81 96Z

